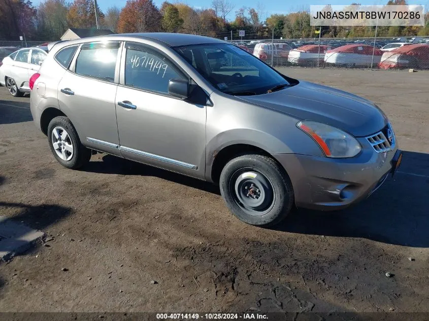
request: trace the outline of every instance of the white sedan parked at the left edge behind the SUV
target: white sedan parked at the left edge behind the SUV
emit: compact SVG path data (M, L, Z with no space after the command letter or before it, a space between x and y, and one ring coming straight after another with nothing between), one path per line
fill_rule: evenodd
M12 96L21 97L30 92L30 77L39 71L48 47L24 48L3 59L0 66L0 84L6 86Z

